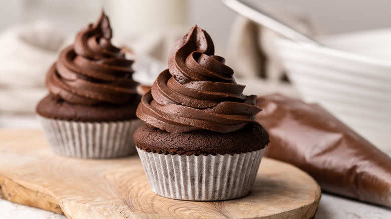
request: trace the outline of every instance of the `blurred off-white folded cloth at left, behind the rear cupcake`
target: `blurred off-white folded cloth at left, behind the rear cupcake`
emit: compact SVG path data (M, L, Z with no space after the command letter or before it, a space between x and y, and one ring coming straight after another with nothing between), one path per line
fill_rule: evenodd
M16 25L0 34L0 114L32 113L44 96L45 73L64 37L47 22Z

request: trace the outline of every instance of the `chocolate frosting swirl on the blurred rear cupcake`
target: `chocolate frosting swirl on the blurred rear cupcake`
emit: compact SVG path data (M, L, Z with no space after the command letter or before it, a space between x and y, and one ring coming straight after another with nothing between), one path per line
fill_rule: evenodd
M75 43L64 48L49 69L49 91L67 102L83 105L126 104L136 96L137 82L132 79L133 60L111 44L109 18L102 11L76 36Z

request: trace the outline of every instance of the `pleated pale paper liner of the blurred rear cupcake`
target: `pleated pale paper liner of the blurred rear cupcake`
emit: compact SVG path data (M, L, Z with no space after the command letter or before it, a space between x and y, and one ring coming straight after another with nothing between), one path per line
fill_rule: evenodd
M82 122L46 118L42 122L49 145L63 156L114 158L136 153L133 133L140 119L114 122Z

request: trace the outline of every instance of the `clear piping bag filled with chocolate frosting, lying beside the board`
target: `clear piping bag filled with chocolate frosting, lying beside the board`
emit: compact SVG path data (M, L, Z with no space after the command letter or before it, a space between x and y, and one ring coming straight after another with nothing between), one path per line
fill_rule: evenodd
M391 207L391 157L318 104L271 94L257 105L266 156L306 171L323 191Z

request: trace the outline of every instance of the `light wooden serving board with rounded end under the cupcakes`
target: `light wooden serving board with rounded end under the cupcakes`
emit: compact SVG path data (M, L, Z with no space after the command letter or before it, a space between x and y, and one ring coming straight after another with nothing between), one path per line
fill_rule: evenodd
M0 197L68 218L311 218L321 192L300 169L263 158L252 192L226 201L154 194L137 155L83 160L55 155L40 130L0 129Z

